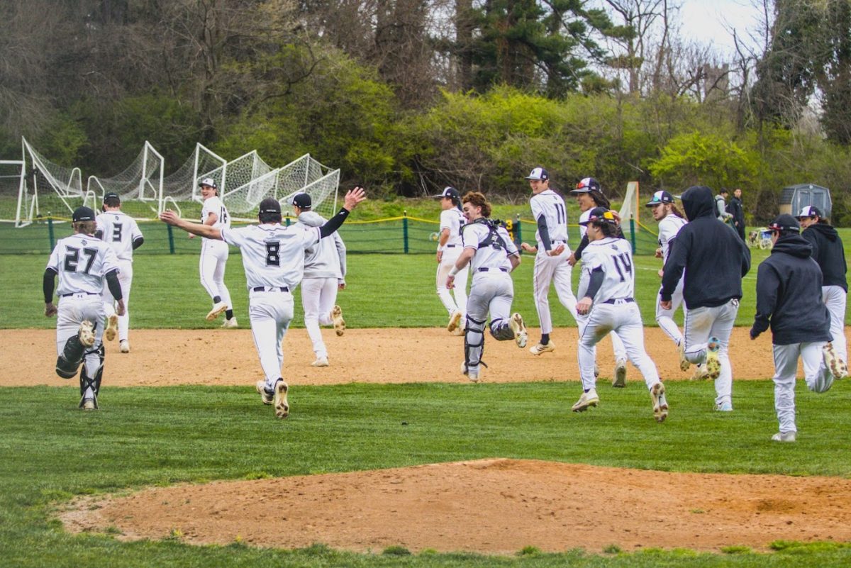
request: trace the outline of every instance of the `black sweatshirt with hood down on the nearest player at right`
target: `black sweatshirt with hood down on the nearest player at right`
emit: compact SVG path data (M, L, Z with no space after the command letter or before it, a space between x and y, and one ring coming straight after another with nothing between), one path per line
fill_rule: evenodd
M751 337L771 324L777 345L831 341L831 315L821 301L821 270L802 236L781 235L757 270L757 314Z

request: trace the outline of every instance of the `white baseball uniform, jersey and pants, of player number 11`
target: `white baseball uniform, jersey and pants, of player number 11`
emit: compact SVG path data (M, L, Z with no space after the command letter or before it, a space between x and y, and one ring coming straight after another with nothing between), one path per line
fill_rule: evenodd
M558 301L568 309L574 320L576 314L576 297L573 292L573 267L568 264L570 247L568 247L568 216L564 200L553 190L541 191L529 200L532 216L539 224L545 224L547 241L544 242L540 229L535 231L535 241L538 241L538 253L534 258L534 275L532 287L534 304L538 310L540 332L552 332L552 316L550 314L550 285L555 284ZM550 256L549 250L564 245L564 252L558 256Z

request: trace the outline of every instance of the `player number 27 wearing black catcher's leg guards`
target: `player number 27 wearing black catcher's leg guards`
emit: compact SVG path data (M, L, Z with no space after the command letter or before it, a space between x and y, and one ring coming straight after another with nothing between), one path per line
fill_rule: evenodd
M44 315L56 318L56 374L77 375L80 364L80 408L96 410L106 351L103 346L104 281L115 298L117 315L124 314L118 281L118 259L111 247L94 236L94 211L77 207L71 216L74 234L56 242L44 270ZM59 276L59 309L53 304Z

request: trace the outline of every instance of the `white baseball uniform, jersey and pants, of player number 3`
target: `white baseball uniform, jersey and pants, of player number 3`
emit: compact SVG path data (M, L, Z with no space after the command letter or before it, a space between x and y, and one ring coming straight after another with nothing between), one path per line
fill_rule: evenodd
M142 238L139 224L123 211L100 213L95 219L97 230L103 232L102 241L109 244L118 258L118 283L124 300L124 315L118 316L118 340L128 338L130 327L130 287L133 286L133 241ZM103 287L103 302L106 317L115 315L115 298L106 283Z

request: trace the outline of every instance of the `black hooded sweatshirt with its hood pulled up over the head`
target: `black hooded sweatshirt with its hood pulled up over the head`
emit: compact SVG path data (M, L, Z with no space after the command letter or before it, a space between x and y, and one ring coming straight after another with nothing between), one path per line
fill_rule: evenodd
M686 308L714 307L742 297L742 276L751 270L751 251L715 216L715 198L705 185L683 192L688 223L672 241L662 276L662 300L670 300L683 275Z

